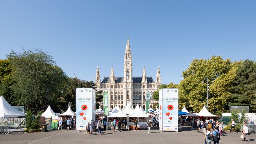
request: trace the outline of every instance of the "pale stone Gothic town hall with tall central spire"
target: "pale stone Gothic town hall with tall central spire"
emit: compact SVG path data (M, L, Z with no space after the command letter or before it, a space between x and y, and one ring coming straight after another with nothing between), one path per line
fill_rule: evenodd
M97 90L103 90L103 92L109 92L109 107L114 109L119 104L121 109L127 105L127 103L135 108L137 104L143 109L146 108L146 92L152 92L150 98L150 107L153 103L153 92L158 90L161 85L161 76L159 66L157 68L156 81L152 77L146 76L145 67L141 77L133 77L133 64L132 53L130 48L129 37L126 44L124 54L124 77L115 77L113 66L111 68L110 76L105 77L100 81L99 67L97 67L95 83ZM102 108L102 104L101 104Z

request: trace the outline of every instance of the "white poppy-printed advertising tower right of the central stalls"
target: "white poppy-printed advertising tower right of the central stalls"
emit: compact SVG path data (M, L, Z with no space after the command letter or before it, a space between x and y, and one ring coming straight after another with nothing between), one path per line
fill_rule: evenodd
M162 103L159 103L160 109L162 109L162 130L178 132L178 88L163 88L160 91L159 98L162 97Z

